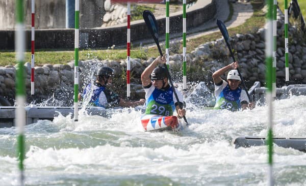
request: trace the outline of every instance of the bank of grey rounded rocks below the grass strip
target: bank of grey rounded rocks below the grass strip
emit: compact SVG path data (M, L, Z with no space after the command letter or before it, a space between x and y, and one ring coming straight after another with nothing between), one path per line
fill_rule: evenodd
M285 47L284 47L284 15L278 11L277 21L277 63L276 84L278 87L285 84ZM246 85L250 87L254 81L265 83L265 29L261 28L251 34L236 34L231 38L232 48ZM175 46L170 46L175 47ZM143 98L140 75L154 60L131 59L131 98ZM187 53L187 79L189 82L205 81L213 90L212 72L231 63L229 51L223 38L198 46L194 51ZM82 86L94 79L94 72L100 66L109 66L115 69L113 88L122 98L126 95L125 69L126 60L86 60L80 61L79 90ZM35 67L35 95L31 91L31 64L25 63L25 84L28 102L42 103L41 106L71 106L73 102L74 62L67 65L49 65ZM15 70L16 66L0 67L0 96L5 97L11 104L15 97ZM182 55L170 56L170 70L173 81L182 81ZM289 24L289 72L290 84L306 83L306 43L299 33L297 26ZM224 77L225 78L225 77ZM189 88L192 88L190 83ZM3 99L0 99L0 101ZM5 103L1 101L3 106Z

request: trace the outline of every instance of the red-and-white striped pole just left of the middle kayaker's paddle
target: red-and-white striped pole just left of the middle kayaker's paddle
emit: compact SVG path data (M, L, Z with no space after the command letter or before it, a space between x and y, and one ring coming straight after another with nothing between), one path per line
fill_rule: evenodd
M129 100L131 96L130 71L131 71L131 3L127 2L127 65L126 65L126 98Z

